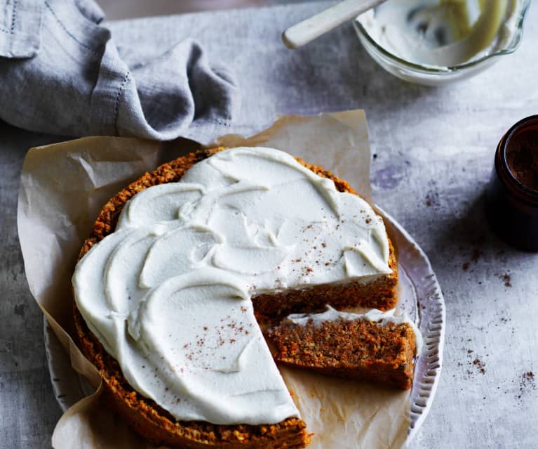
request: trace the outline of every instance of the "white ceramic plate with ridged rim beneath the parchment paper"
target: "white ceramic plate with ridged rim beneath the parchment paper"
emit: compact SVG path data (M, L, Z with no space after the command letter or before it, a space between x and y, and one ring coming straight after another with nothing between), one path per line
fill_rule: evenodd
M415 379L411 389L409 442L428 414L441 375L445 339L445 301L426 254L396 220L385 212L383 214L396 231L401 284L400 307L417 323L424 338L424 347L417 358ZM72 370L69 356L47 320L43 320L48 369L51 372L55 396L65 411L92 393L92 389L85 379Z

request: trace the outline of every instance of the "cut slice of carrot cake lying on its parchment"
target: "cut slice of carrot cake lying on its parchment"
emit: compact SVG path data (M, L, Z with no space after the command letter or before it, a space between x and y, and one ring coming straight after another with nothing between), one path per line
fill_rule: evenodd
M407 315L373 309L289 315L267 339L278 363L410 389L422 338ZM415 349L416 347L416 349Z

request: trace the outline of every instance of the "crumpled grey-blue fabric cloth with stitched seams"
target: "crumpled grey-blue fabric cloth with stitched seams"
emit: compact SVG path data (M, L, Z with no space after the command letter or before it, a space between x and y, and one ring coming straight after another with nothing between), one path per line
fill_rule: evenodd
M103 18L92 0L0 0L0 118L69 136L225 134L240 97L231 72L192 39L128 67Z

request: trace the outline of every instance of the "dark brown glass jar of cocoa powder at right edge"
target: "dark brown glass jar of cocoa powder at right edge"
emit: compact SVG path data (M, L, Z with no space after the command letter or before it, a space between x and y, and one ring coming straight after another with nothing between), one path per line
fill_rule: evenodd
M538 252L538 115L520 120L499 142L486 215L506 243Z

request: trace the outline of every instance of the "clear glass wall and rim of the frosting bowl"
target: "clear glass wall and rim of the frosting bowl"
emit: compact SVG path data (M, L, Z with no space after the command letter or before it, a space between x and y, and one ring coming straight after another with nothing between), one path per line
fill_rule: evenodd
M361 44L363 44L372 59L381 65L384 70L408 82L423 84L425 86L438 86L472 77L497 62L499 56L508 55L516 51L523 36L523 22L525 21L525 14L529 6L530 0L515 1L509 20L497 32L495 39L498 44L490 50L481 51L466 63L452 67L422 65L398 58L398 56L383 48L368 34L368 31L365 30L365 27L359 21L361 16L356 18L353 24ZM509 25L509 27L506 25ZM509 29L512 31L508 32L507 30Z

